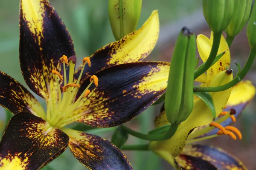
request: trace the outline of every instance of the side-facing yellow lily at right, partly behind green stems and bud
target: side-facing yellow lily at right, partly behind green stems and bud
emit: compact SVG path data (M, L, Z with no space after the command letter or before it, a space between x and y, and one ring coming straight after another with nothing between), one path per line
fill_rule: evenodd
M205 62L212 46L210 40L204 35L197 37L198 51L201 59ZM221 37L218 54L225 52L207 74L202 74L195 81L201 82L202 87L215 87L224 85L233 79L230 66L230 51L225 38ZM224 150L201 144L191 144L219 135L228 135L232 139L241 139L241 132L231 126L242 110L255 96L255 87L250 81L241 81L233 88L220 92L209 92L212 96L216 117L207 105L198 97L194 96L194 108L188 119L181 122L171 139L166 141L153 141L149 144L149 150L163 157L174 167L183 169L209 169L212 167L237 167L245 169L239 159ZM162 111L154 121L155 127L169 125L166 114Z

